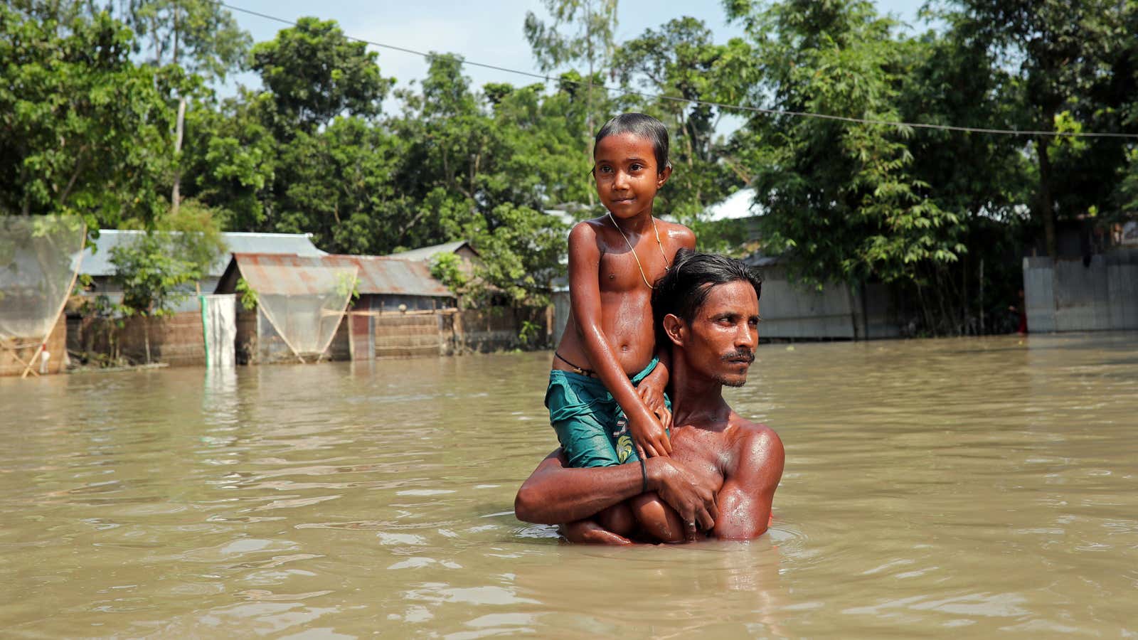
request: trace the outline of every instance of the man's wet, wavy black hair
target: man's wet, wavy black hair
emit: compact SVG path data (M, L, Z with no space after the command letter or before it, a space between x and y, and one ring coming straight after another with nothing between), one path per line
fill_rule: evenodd
M671 269L655 281L652 289L652 323L655 339L668 344L663 331L663 317L671 313L685 322L695 314L708 297L711 287L742 280L754 287L754 296L762 295L762 277L743 261L687 248L676 252Z

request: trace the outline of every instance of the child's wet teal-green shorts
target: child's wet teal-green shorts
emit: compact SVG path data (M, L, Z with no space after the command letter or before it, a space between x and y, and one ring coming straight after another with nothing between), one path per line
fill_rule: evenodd
M651 374L658 362L653 358L643 371L633 376L633 386ZM667 394L663 401L671 409ZM600 379L554 369L550 371L545 407L570 467L611 467L640 460L625 412Z

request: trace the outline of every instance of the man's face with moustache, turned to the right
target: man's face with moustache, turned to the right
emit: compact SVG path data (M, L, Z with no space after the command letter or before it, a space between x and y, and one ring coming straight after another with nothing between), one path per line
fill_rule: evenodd
M759 342L759 297L744 280L716 285L685 323L684 359L719 384L741 387Z

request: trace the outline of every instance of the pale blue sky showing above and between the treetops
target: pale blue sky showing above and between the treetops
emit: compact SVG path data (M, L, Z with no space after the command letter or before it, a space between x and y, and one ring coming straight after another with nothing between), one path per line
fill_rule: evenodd
M522 33L526 13L533 11L547 18L541 0L420 0L391 2L377 0L358 2L348 0L222 0L237 7L296 20L303 16L335 19L346 35L362 40L382 42L418 51L452 52L468 60L501 67L539 73L530 54L529 43ZM891 14L902 22L916 25L917 10L923 0L877 0L880 11ZM650 7L650 8L649 8ZM262 17L231 9L238 24L248 31L255 42L271 40L286 25ZM715 34L716 41L724 42L742 35L736 25L724 19L723 6L718 0L655 0L649 2L625 1L618 5L617 41L635 38L646 28L657 28L666 22L682 16L703 20ZM420 80L427 71L427 61L412 54L389 49L379 52L379 67L385 76L394 76L396 87L407 87L412 80ZM487 82L529 84L536 80L519 74L467 66L473 87ZM234 76L228 90L236 83L247 87L259 85L255 74Z

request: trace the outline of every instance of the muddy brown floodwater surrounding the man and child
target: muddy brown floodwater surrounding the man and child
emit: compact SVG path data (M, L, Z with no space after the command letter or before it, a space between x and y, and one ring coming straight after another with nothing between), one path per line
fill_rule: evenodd
M1138 635L1138 335L762 345L770 532L519 523L550 354L0 379L16 638Z

